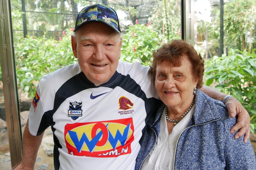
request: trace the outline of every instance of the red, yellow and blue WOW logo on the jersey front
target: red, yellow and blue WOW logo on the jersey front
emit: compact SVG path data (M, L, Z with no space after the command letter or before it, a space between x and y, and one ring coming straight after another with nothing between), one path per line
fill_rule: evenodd
M132 118L104 122L66 124L65 141L69 154L117 157L131 153Z

